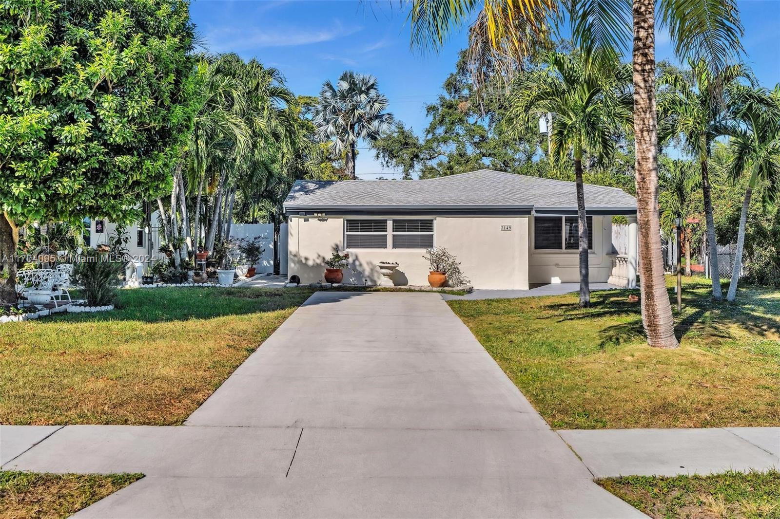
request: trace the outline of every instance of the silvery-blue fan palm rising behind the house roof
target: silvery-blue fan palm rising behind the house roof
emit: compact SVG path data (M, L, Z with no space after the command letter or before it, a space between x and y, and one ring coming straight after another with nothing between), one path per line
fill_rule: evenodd
M325 81L320 103L314 111L317 136L332 141L337 153L346 149L346 174L355 179L356 144L359 139L376 140L392 128L393 116L386 113L387 97L381 94L374 76L346 71L336 86Z

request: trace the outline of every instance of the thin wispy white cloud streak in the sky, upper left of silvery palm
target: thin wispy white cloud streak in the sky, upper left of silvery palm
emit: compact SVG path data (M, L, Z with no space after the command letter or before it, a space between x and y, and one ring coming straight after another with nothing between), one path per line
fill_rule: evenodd
M332 41L355 34L360 26L345 28L339 20L327 28L307 29L303 27L268 28L218 27L206 34L208 47L214 52L246 51L262 47L293 47Z

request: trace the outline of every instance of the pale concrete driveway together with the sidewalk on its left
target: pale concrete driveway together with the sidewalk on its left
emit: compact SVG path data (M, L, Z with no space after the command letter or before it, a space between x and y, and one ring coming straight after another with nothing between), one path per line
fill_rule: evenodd
M14 464L147 474L78 517L644 517L436 294L318 292L186 425L66 427Z

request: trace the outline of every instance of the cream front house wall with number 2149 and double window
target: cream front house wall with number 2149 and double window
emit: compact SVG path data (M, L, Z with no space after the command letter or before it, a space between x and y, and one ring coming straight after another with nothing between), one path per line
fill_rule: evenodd
M380 217L370 217L376 219ZM358 218L360 219L360 218ZM321 281L324 260L334 250L344 250L343 217L292 217L289 221L289 276L303 283ZM434 244L445 247L461 263L461 270L475 288L528 288L530 217L436 217ZM502 231L502 227L509 230ZM397 285L427 285L429 266L424 249L354 249L344 283L378 284L378 263L399 263L393 281Z

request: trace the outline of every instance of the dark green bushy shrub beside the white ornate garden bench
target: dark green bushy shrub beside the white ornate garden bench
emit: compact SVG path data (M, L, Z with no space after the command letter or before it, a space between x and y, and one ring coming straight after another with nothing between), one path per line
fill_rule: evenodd
M116 284L124 274L125 263L111 253L86 249L73 264L76 283L83 285L87 305L111 305L116 297Z

